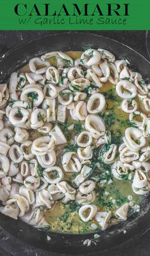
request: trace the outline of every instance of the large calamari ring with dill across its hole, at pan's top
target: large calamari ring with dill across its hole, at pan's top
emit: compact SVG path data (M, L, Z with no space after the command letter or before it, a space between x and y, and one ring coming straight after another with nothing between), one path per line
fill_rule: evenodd
M81 55L80 62L85 66L92 66L94 64L99 63L100 61L100 53L95 49L87 49Z

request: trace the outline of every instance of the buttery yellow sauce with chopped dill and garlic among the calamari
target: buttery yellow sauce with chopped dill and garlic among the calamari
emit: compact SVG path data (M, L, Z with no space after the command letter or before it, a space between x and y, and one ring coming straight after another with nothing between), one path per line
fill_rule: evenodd
M81 56L81 52L66 52L73 59L78 59ZM51 64L55 66L55 58L48 59ZM115 85L111 82L106 82L103 87L100 88L100 93L104 94L106 98L106 107L100 113L100 116L104 119L106 124L106 130L111 132L111 143L119 146L123 142L123 135L125 129L129 126L128 114L123 112L121 109L121 98L116 94ZM138 117L137 117L138 119ZM76 145L71 144L74 137L84 130L82 128L82 122L74 122L71 118L67 117L67 125L64 126L65 135L67 133L69 138L67 138L67 146L59 148L64 152L76 151ZM76 128L70 132L67 128L72 123L76 124ZM63 128L63 127L62 127ZM132 202L133 205L140 204L143 196L136 195L132 190L132 183L125 179L118 181L111 174L111 165L101 162L100 152L101 148L95 149L93 153L92 162L98 163L98 167L94 168L92 175L89 179L97 181L96 187L96 199L95 204L99 207L100 211L109 211L113 213L125 204L125 202ZM116 156L116 160L117 160ZM61 159L57 160L59 165ZM65 174L65 180L71 183L72 174ZM106 181L106 182L104 182ZM57 202L52 209L46 210L44 215L46 222L50 224L50 230L53 232L67 232L67 233L79 233L85 234L93 232L94 230L100 230L99 225L94 220L85 223L79 218L78 211L80 205L78 202L72 201L67 204L62 204L62 202ZM130 208L129 215L132 214L133 208ZM111 218L110 223L117 223L118 220ZM93 228L94 227L94 228Z

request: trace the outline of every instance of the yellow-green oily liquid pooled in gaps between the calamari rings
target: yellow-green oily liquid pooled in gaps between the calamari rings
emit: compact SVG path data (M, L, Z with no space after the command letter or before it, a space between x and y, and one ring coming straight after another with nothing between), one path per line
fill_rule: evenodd
M73 59L81 57L82 52L66 52ZM49 59L51 65L55 65L55 59ZM115 85L111 82L106 82L104 86L100 88L100 93L106 96L106 107L102 111L104 114L104 121L106 123L106 129L113 135L114 143L118 143L119 139L122 140L125 134L125 129L128 127L128 114L121 109L121 99L118 98L115 91ZM71 120L71 117L67 116L67 122L69 124L76 123ZM71 133L71 140L74 140L74 132ZM69 144L71 141L68 142ZM121 144L121 142L118 143ZM62 150L62 149L60 149ZM58 162L61 165L61 159ZM110 171L110 170L109 170ZM99 173L100 176L100 173ZM64 179L71 182L72 174L65 174ZM118 181L112 177L112 183L101 185L98 183L96 199L93 204L97 204L100 211L111 210L113 213L123 205L125 202L130 202L128 196L132 198L133 204L139 204L143 199L142 196L136 195L132 190L132 183L128 180ZM85 234L93 232L93 226L96 230L100 227L92 220L88 223L82 222L78 215L79 205L76 202L69 202L62 204L58 201L52 209L46 210L44 213L46 222L50 224L50 230L53 232L67 232L67 233L79 233ZM111 223L117 223L118 221L113 218ZM94 225L93 225L94 224Z

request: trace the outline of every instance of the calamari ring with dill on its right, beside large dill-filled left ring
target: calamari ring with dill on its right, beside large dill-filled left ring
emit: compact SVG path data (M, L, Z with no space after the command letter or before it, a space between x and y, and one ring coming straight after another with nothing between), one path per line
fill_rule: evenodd
M46 111L44 109L34 109L31 113L31 128L38 129L46 122Z

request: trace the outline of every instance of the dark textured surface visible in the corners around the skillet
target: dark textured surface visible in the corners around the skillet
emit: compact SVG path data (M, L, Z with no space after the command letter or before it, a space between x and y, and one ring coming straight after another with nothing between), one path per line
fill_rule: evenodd
M90 31L91 33L92 31ZM55 31L0 31L0 54L4 54L11 48L23 43L26 40L39 38L46 36L47 34L55 33ZM57 32L58 33L58 32ZM149 31L93 31L95 34L101 34L114 40L125 43L132 49L136 50L146 59L150 60L150 33ZM142 71L141 71L142 73ZM53 255L48 252L36 250L31 246L25 245L24 243L13 239L10 235L3 232L0 229L0 249L1 256L8 255L19 255L19 256L42 256L42 255ZM149 256L150 255L150 230L147 231L142 237L133 239L130 243L122 245L120 248L111 250L101 255L107 256ZM9 253L6 253L9 252ZM95 252L95 255L98 255Z

